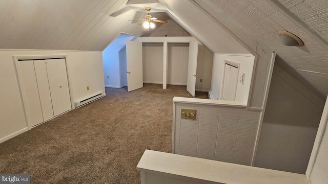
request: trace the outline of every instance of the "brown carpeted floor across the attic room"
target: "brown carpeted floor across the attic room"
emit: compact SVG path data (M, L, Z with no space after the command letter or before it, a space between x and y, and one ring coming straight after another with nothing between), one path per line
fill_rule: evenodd
M173 97L191 95L158 84L106 94L0 144L0 174L30 174L31 183L140 183L145 149L171 152Z

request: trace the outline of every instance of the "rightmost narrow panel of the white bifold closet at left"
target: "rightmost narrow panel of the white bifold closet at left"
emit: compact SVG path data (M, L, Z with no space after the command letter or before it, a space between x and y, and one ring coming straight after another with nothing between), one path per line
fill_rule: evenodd
M72 108L70 91L68 88L67 71L65 59L56 59L57 72L60 83L60 96L61 102L63 103L63 112L68 111Z

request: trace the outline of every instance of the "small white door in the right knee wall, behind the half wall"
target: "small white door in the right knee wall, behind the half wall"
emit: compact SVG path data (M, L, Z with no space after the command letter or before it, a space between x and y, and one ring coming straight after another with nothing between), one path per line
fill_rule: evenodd
M221 100L235 101L237 82L238 67L227 63L224 64L224 78Z

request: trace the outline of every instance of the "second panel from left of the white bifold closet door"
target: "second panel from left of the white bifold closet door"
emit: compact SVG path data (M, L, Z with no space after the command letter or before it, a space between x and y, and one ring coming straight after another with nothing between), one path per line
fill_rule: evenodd
M40 103L43 113L43 120L47 121L53 118L54 115L52 110L52 102L50 96L46 61L35 60L33 62L35 68L36 81L39 89L39 97L40 97Z

